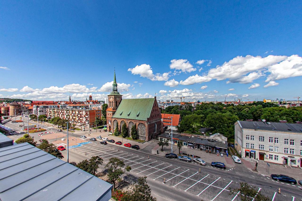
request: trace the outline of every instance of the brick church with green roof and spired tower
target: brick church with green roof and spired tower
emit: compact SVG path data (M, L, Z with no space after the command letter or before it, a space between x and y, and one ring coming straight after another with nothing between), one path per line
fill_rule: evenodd
M117 125L121 132L123 124L126 124L128 135L131 136L131 128L136 125L138 138L146 141L163 132L162 117L156 96L154 98L122 99L123 95L117 91L115 71L112 86L106 110L108 132L114 132Z

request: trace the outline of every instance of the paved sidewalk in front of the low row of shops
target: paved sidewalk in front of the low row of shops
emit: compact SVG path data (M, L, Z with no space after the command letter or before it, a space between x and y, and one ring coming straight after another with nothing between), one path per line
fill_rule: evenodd
M158 153L159 153L158 155L159 156L165 156L165 154L171 153L171 144L169 144L168 147L164 146L162 152L160 151L161 147L158 147L157 149L156 149L156 147L158 147L158 145L154 145L153 148L155 148L155 149L153 149L153 153L158 150ZM217 156L217 154L215 154L215 153L209 153L209 152L207 153L207 152L201 151L201 150L190 149L190 148L185 147L185 146L182 147L180 149L180 151L182 152L182 155L189 154L190 157L192 157L193 155L196 156L196 157L199 157L202 160L204 160L205 162L207 162L207 164L211 164L212 162L222 162L228 168L234 168L235 167L235 163L234 163L234 161L233 161L233 159L231 158L230 155L229 155L229 157L226 157L226 155L223 155L223 157L221 157L220 154ZM173 145L173 153L179 155L177 145Z

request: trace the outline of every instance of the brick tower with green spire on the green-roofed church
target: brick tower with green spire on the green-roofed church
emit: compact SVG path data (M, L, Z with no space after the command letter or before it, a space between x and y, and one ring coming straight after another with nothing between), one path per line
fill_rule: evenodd
M120 101L122 101L122 95L117 91L117 82L116 82L115 70L114 70L112 91L108 95L108 108L106 110L107 129L109 132L113 132L112 116L114 115L118 105L120 104Z

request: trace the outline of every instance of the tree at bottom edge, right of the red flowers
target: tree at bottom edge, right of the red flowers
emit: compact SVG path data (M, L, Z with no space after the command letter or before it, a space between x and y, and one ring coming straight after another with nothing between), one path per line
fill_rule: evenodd
M156 198L151 196L151 188L147 185L146 176L138 177L137 183L133 187L131 200L133 201L156 201Z

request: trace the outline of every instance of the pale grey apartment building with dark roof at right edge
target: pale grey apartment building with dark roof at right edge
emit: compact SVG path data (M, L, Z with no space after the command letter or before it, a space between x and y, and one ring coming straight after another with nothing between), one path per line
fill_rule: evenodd
M302 124L265 120L237 121L235 148L242 157L301 167Z

